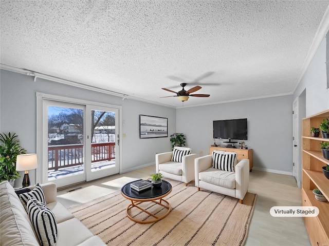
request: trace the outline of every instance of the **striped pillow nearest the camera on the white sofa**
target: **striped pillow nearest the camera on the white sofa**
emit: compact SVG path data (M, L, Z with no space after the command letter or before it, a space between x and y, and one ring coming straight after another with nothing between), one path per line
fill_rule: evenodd
M35 198L29 198L27 201L27 214L40 244L55 244L57 241L57 223L51 210Z

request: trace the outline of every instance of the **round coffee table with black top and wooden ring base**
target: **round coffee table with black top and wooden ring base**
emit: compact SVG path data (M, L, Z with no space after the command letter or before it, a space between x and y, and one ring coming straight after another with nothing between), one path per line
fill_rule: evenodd
M135 181L133 181L133 182L135 182ZM170 213L170 209L171 209L170 203L167 200L162 199L163 197L167 196L172 191L172 186L170 185L170 183L168 181L162 180L162 185L159 188L152 187L151 189L148 189L145 191L140 191L140 192L131 189L130 188L131 183L132 182L126 183L121 188L122 196L131 200L131 204L129 204L129 206L126 209L126 214L127 214L128 218L130 218L131 220L133 220L137 223L145 224L145 223L153 223L160 219L163 219ZM159 201L157 201L157 200L159 200ZM140 204L142 202L146 202L146 201L152 201L152 202L162 206L163 208L166 208L168 211L166 212L166 214L158 217L155 214L138 206L138 204ZM162 202L165 202L166 204L163 204ZM149 214L150 216L154 217L154 219L151 219L151 220L134 219L129 214L129 210L133 207L138 208L139 210Z

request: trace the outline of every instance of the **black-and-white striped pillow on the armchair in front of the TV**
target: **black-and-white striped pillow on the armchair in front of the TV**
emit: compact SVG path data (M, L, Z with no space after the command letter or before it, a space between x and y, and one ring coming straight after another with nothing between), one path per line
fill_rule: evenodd
M212 152L212 167L223 171L234 172L235 159L236 153L234 152L214 151Z

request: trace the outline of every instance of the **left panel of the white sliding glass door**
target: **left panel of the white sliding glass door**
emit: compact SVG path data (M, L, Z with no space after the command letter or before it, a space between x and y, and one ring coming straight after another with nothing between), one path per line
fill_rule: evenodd
M85 106L44 100L43 182L85 180Z

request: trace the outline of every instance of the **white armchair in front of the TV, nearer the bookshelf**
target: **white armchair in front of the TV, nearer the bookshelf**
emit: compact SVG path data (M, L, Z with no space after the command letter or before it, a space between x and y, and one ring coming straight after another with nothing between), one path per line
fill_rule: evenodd
M202 188L232 196L240 199L240 203L243 203L243 198L249 187L249 160L237 160L235 172L212 168L212 163L212 155L195 159L195 186L197 190Z

